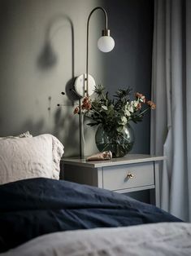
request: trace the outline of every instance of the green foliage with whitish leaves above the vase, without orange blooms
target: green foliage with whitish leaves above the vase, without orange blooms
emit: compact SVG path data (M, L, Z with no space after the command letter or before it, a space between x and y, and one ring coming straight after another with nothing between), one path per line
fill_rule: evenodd
M91 108L85 110L85 117L89 117L92 121L88 123L89 126L98 126L102 124L103 129L115 133L120 133L128 122L135 123L142 121L145 112L150 109L143 110L145 104L145 96L135 95L134 100L130 100L132 89L119 89L115 92L113 99L109 98L108 92L101 85L95 88L97 97L91 100Z

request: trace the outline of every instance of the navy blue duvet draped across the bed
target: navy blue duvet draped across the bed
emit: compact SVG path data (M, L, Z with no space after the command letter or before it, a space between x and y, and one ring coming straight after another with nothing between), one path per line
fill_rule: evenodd
M115 192L53 179L0 186L0 252L50 233L180 219Z

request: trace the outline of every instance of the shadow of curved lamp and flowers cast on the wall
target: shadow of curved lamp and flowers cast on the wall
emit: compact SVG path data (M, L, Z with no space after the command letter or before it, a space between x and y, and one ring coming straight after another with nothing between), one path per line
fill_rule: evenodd
M67 151L72 152L72 149L75 148L75 150L77 149L76 154L79 154L79 149L78 147L76 147L76 145L79 145L79 135L78 133L76 134L76 130L78 131L79 129L79 124L76 123L76 118L72 118L70 112L71 108L73 108L74 106L74 101L79 99L73 92L73 85L75 81L74 29L72 20L67 15L56 15L50 20L46 29L44 47L42 48L41 53L37 58L37 66L41 69L41 71L49 71L50 68L54 68L54 66L57 64L58 55L56 54L52 41L55 34L63 28L66 22L71 28L72 35L72 79L67 82L65 86L65 91L60 92L64 97L62 103L58 102L58 108L56 108L53 113L54 126L52 129L52 134L64 143L65 147L67 147ZM49 112L49 117L51 115L52 108L51 99L52 97L49 96L49 106L47 108ZM64 109L62 109L62 107Z

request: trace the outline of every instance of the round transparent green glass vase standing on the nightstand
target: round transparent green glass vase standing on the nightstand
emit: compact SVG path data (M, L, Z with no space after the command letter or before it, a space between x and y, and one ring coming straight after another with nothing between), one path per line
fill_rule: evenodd
M98 126L95 142L99 152L110 150L113 157L124 157L132 150L135 141L134 131L129 124L121 132L117 130L106 131L102 125Z

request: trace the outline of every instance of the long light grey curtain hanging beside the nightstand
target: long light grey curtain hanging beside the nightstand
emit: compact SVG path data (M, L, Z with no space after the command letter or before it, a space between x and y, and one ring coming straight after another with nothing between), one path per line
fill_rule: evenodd
M150 144L151 153L167 157L161 175L161 207L184 220L191 219L188 2L154 2L152 98L157 109L151 116Z

